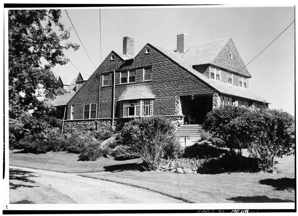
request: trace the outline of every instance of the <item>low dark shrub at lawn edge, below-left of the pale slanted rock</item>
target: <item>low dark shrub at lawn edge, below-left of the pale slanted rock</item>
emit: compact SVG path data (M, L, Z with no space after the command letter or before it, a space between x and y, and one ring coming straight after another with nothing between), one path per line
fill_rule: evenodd
M103 147L101 143L103 141L94 140L92 142L86 143L83 147L79 158L82 161L96 161L100 156L103 156Z

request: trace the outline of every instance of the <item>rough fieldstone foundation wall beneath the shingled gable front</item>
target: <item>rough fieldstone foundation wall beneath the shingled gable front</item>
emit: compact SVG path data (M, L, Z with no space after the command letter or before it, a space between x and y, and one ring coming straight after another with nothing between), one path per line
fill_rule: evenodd
M174 123L175 127L178 128L184 124L184 116L165 116ZM121 130L123 125L126 122L133 120L134 118L119 118L114 120L114 126L117 130ZM103 129L104 126L102 124L111 125L112 119L99 119L99 129ZM75 133L75 132L82 132L86 133L90 131L90 129L96 129L97 127L97 119L94 120L72 120L72 121L64 121L63 126L63 133Z

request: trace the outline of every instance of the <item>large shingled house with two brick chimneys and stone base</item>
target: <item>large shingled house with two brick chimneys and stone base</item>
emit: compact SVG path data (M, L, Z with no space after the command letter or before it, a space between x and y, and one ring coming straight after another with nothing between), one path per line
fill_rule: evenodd
M123 53L111 51L67 98L65 132L88 130L94 120L122 125L150 115L202 124L219 106L268 106L249 90L251 75L231 38L187 45L181 33L176 49L147 43L133 56L134 39L124 37Z

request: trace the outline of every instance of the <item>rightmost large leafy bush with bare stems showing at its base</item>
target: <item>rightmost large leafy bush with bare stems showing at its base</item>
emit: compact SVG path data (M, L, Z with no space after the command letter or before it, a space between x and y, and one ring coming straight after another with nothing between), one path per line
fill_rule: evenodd
M285 111L260 109L235 119L236 129L248 134L248 151L263 170L271 170L274 161L294 150L294 117Z

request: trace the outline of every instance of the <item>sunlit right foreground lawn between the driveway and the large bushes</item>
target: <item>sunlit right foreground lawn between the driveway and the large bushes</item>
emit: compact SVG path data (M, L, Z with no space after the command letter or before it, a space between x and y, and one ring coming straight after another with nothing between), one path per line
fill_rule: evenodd
M177 174L122 171L85 177L149 189L190 203L294 202L294 156L278 158L276 175L258 173Z

